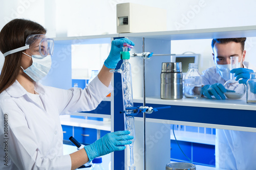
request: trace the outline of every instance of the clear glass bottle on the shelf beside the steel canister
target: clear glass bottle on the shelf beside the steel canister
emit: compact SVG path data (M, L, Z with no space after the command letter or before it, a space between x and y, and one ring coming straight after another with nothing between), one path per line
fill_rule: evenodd
M184 78L184 93L186 98L200 98L202 78L196 63L189 63L188 71Z

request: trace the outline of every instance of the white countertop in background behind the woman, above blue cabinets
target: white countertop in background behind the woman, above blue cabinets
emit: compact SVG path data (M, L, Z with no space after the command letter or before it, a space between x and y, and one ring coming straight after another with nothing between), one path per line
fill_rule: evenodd
M61 125L75 126L82 128L91 128L97 130L111 131L111 122L103 122L98 120L86 120L74 117L60 117Z

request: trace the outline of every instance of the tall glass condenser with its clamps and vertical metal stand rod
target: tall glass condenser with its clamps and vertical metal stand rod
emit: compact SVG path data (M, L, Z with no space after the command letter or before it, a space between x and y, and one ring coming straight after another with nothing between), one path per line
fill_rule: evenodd
M144 39L143 39L144 42ZM143 45L144 46L144 45ZM143 106L134 107L133 106L133 88L132 88L132 71L131 71L131 64L129 63L130 59L130 53L128 51L128 48L133 48L132 45L123 43L123 52L120 53L121 59L123 60L123 63L121 64L121 67L117 70L110 70L110 72L119 72L122 76L122 94L123 94L123 111L120 111L120 113L124 113L124 125L125 130L130 131L130 135L134 136L134 139L132 140L132 144L129 145L130 148L130 162L131 165L129 166L129 170L135 170L136 166L134 165L134 156L133 156L133 148L134 148L134 142L135 142L135 125L134 125L134 116L138 113L143 113L143 117L145 118L145 113L151 114L153 112L157 112L159 109L169 109L170 106L165 107L148 107L145 106L145 93L143 93ZM144 51L144 50L143 50ZM169 54L167 54L169 55ZM172 54L170 54L172 55ZM153 56L153 53L149 52L143 52L136 54L134 53L132 57L142 57L143 61L145 59L149 59ZM160 54L155 56L166 56L166 54ZM144 63L144 62L143 62ZM144 71L145 65L143 64L143 75L145 73ZM143 76L143 80L145 80L145 76ZM143 83L143 89L145 89L145 83ZM145 119L144 119L144 169L146 169L145 164Z

